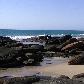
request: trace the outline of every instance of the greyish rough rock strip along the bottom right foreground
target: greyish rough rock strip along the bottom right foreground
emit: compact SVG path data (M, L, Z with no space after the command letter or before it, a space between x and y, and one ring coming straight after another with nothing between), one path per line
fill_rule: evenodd
M51 77L49 79L40 79L40 81L35 82L33 84L84 84L84 83L79 80Z

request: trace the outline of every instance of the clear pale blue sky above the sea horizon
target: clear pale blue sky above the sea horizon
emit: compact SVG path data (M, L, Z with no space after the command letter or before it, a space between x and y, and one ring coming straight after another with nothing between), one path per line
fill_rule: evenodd
M84 30L84 0L0 0L0 28Z

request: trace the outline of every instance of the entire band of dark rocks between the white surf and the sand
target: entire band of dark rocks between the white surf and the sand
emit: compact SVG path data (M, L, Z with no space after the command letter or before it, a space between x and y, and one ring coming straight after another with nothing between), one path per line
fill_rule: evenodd
M37 65L45 56L73 57L68 64L84 63L84 39L76 39L71 35L63 37L39 36L38 44L23 44L9 37L0 36L0 66Z

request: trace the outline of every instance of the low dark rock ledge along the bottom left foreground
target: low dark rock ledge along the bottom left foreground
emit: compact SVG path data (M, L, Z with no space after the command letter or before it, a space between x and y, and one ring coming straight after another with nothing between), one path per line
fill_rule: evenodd
M39 81L40 78L37 76L25 76L25 77L1 77L0 84L32 84L33 82Z

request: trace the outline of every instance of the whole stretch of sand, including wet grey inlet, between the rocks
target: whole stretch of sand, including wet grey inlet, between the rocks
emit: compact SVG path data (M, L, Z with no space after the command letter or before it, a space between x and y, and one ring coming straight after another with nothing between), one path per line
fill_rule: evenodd
M8 68L0 70L0 76L29 76L29 75L47 75L60 76L66 75L70 78L73 75L84 73L84 65L68 65L67 58L45 58L41 66L24 66L21 68Z

